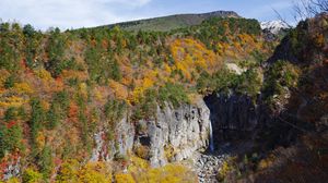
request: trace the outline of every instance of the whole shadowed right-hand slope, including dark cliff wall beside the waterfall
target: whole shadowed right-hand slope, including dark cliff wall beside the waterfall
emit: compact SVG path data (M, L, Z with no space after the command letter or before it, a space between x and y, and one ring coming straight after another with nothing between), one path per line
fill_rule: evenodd
M326 182L327 37L327 13L292 29L263 64L256 102L239 94L206 99L216 142L243 147L219 172L221 181Z

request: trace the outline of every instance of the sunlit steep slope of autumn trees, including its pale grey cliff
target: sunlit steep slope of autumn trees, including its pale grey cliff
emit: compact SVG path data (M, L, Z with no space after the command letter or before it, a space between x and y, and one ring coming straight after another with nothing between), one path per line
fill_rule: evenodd
M0 27L0 175L24 182L195 182L179 163L209 144L201 95L257 96L276 45L234 17L137 34Z

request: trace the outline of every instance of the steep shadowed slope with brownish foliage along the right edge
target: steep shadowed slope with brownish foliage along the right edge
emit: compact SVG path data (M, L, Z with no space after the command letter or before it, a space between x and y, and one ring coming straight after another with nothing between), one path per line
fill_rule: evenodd
M279 103L276 109L285 103L280 110L281 118L293 124L293 129L302 135L295 146L278 148L272 152L276 160L271 159L272 166L258 173L257 182L270 182L277 178L281 182L326 182L328 178L327 38L328 14L323 13L301 22L270 59L271 71L278 69L276 66L281 65L282 60L286 62L284 66L283 66L284 83L274 82L276 89L268 86L268 90L276 95L273 98L269 97L270 101ZM297 77L293 78L293 74L288 70L297 71ZM268 83L273 84L270 80L277 80L277 76L268 77ZM293 85L292 80L296 80L297 84ZM279 88L279 85L283 88Z

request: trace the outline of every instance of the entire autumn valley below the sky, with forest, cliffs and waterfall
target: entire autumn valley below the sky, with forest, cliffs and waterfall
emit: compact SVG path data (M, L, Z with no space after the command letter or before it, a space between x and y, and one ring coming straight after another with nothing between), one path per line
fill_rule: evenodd
M328 14L277 24L1 23L0 182L325 182Z

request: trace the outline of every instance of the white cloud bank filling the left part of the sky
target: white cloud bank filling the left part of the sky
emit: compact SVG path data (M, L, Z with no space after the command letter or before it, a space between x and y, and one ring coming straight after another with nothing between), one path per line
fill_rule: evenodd
M127 21L124 10L138 9L151 0L1 0L0 17L31 23L37 28L97 26ZM121 12L117 12L121 10Z

